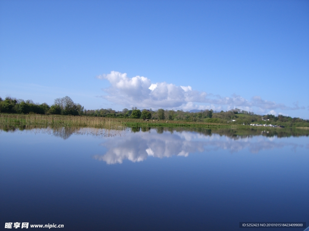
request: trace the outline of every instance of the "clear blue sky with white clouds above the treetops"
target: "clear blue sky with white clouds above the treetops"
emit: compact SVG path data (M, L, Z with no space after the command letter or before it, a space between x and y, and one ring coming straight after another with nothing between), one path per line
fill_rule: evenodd
M0 1L2 98L309 119L308 87L308 1Z

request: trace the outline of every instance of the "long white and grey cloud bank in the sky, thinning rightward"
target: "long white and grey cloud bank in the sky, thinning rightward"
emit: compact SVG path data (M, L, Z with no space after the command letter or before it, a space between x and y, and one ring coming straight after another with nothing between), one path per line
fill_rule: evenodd
M101 96L110 102L125 107L136 106L139 108L164 108L164 109L213 109L230 110L235 107L260 113L276 113L275 109L298 110L298 102L294 107L288 107L282 103L276 103L254 96L252 99L244 99L240 95L221 97L220 95L208 94L204 91L195 91L191 86L176 86L172 83L151 83L150 79L143 76L129 78L126 73L111 71L107 75L99 75L98 79L106 79L111 86L103 89L107 95ZM255 111L256 111L255 110Z

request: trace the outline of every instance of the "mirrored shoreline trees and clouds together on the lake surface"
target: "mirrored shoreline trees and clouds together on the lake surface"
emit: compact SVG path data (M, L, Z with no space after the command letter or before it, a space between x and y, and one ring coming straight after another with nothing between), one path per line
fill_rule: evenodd
M107 130L100 128L0 128L6 132L29 131L48 133L61 139L75 135L100 136L102 153L93 156L107 164L146 160L148 156L163 158L171 156L187 157L194 152L210 152L226 149L231 153L248 150L258 153L262 150L298 146L309 148L309 144L294 144L290 136L308 136L309 130L269 128L269 129L232 129L232 128L149 128L134 127L126 130Z

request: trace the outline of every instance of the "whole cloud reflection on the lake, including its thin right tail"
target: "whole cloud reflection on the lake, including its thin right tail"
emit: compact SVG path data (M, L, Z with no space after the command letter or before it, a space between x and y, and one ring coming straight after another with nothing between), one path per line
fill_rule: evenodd
M151 132L134 132L120 138L110 138L101 144L106 152L94 155L96 160L107 164L122 163L125 159L132 162L145 160L148 156L171 157L188 156L194 152L210 152L212 150L227 149L231 153L247 149L251 153L261 150L289 147L292 150L303 145L286 142L277 137L251 136L228 137L219 134L205 135L197 132L173 131L163 132L162 129Z

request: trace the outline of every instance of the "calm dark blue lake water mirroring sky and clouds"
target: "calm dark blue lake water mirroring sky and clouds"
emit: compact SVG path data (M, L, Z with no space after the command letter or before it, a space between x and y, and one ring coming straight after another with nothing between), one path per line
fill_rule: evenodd
M241 221L308 226L309 138L269 131L1 131L1 229L6 222L29 222L34 230L30 224L64 224L60 230L264 230L239 229Z

